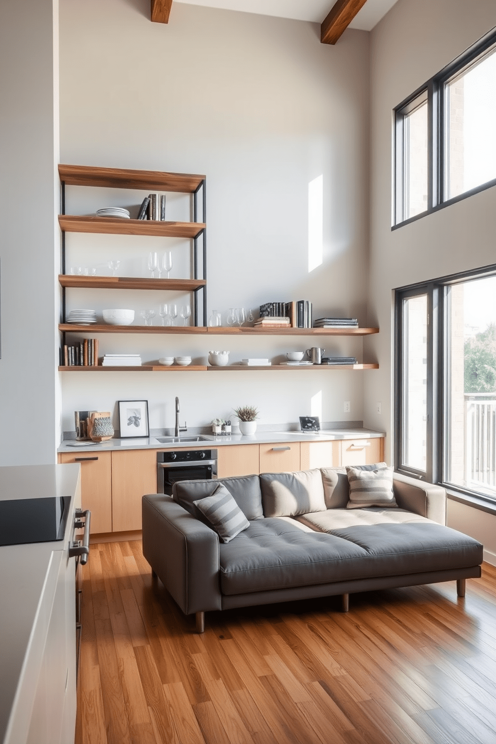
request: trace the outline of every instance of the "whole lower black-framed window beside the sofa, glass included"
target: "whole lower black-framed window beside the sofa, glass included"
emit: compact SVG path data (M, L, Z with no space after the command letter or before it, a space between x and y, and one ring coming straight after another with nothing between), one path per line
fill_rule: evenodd
M496 267L396 292L396 469L496 501Z

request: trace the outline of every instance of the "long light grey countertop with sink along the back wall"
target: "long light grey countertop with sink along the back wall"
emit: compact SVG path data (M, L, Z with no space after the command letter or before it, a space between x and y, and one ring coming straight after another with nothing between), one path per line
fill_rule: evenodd
M183 437L188 437L185 432ZM195 436L195 434L190 434ZM202 449L232 444L270 444L273 442L325 442L343 439L376 439L384 437L384 432L376 432L372 429L329 429L321 432L257 432L256 434L230 434L228 436L214 436L213 434L201 434L202 440L191 442L183 440L160 442L157 437L133 437L130 439L110 439L100 444L78 443L77 446L68 444L70 440L64 440L59 446L58 452L97 452L98 450L121 450L121 449ZM74 440L73 440L74 441Z

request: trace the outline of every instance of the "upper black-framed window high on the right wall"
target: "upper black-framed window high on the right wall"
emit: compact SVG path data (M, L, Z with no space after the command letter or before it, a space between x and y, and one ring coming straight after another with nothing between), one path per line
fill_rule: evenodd
M496 31L395 109L393 227L496 185Z

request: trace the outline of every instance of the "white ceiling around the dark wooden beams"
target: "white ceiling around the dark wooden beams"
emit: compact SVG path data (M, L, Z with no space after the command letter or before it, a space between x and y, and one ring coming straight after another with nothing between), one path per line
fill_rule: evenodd
M350 28L372 31L376 23L397 0L367 0L350 23ZM219 7L222 10L242 10L244 13L259 13L261 16L278 16L297 21L322 23L335 0L175 0L190 5Z

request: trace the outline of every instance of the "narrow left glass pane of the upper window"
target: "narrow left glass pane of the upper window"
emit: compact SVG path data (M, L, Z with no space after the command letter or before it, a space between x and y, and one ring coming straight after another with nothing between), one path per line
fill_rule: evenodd
M428 127L427 101L405 115L403 120L404 216L415 217L427 209L428 190Z

